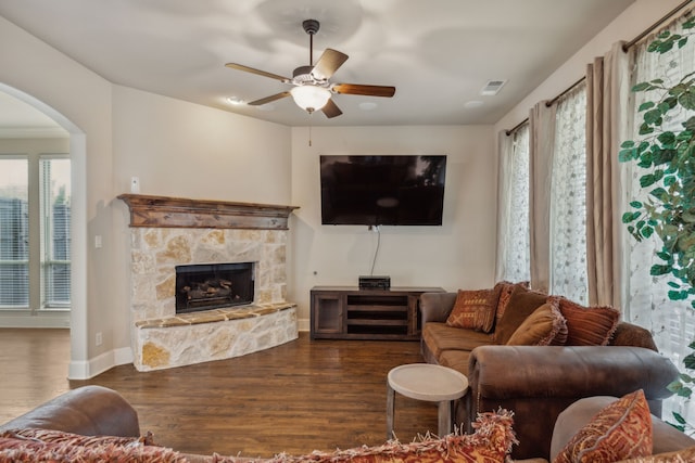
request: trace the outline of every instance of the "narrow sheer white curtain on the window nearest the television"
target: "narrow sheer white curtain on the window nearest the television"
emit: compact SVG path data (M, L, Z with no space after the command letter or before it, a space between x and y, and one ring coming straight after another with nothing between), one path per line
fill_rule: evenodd
M529 125L500 133L495 281L529 281Z

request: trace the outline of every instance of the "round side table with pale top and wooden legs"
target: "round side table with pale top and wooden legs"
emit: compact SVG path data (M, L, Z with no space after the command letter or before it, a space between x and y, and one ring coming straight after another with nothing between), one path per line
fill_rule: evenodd
M468 378L460 372L431 363L409 363L389 372L387 381L387 439L393 436L395 393L429 402L439 402L439 436L452 432L454 400L468 390Z

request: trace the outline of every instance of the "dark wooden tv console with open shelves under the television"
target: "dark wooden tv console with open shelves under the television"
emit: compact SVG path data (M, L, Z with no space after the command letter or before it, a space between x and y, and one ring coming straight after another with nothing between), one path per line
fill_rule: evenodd
M311 291L312 339L420 338L419 301L422 293L441 287L314 286Z

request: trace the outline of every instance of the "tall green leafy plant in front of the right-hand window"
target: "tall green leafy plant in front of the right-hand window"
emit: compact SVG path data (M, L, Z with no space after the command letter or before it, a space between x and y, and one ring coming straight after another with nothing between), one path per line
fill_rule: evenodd
M684 47L695 34L695 20L686 21L682 29L682 34L661 33L647 50L662 54ZM660 261L652 266L650 274L669 279L669 299L695 309L695 72L675 83L654 79L637 83L632 90L649 92L648 101L639 107L640 139L623 142L619 158L634 163L642 172L640 185L647 195L644 201L630 203L622 222L637 241L654 234L659 237L661 247L656 256ZM683 120L677 128L667 123L675 114ZM695 349L695 342L688 348ZM695 352L686 356L683 363L686 371L695 370ZM682 373L669 387L687 400L695 377ZM681 430L693 428L681 414L673 413L673 425Z

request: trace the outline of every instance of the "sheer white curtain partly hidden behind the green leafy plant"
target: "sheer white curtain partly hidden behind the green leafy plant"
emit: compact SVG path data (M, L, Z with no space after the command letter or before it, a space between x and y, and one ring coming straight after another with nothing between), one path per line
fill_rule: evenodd
M668 29L678 30L677 21ZM654 37L652 37L654 38ZM652 40L646 39L643 43L635 46L631 53L634 53L634 68L632 75L633 83L664 78L666 85L673 83L680 78L695 70L695 38L691 38L688 43L680 50L672 50L666 54L648 53L647 46ZM655 99L656 94L645 94L643 92L634 94L634 108L637 108L645 100ZM665 124L671 127L680 127L680 124L692 113L680 114L666 120ZM642 114L636 111L632 115L635 121L635 133L633 139L637 140L636 133L642 120ZM646 191L640 188L639 178L643 172L628 169L627 192L631 198L645 198ZM660 249L661 243L656 235L652 240L644 240L640 243L628 239L626 243L626 258L630 269L628 282L627 300L623 304L624 313L629 321L648 329L655 336L659 350L668 356L679 368L682 369L681 359L690 353L687 345L695 340L695 310L688 308L690 303L673 301L668 298L668 278L652 276L649 269L659 260L655 252ZM669 400L665 403L665 417L670 419L670 410L679 407L677 401ZM692 409L692 406L690 407ZM680 410L687 419L687 415L695 416L693 410Z

